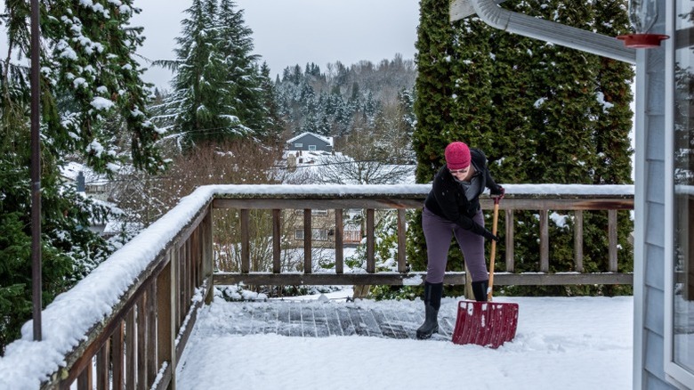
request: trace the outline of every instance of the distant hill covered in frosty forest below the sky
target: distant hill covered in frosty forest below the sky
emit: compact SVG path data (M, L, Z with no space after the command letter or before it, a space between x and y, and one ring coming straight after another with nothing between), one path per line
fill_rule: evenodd
M378 64L287 67L275 81L278 116L290 136L312 132L337 143L355 131L411 134L416 74L415 62L399 54Z

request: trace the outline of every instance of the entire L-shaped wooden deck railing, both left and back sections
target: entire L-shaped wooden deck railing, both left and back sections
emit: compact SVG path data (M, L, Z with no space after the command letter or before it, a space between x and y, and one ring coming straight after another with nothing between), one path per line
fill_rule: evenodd
M422 207L429 185L379 186L269 186L219 185L198 188L190 197L174 207L125 248L117 251L100 267L119 270L120 263L129 257L141 257L128 266L144 264L119 301L102 317L96 317L93 326L64 354L64 365L54 372L45 372L42 388L69 388L77 383L78 389L96 386L98 389L149 389L175 386L175 367L186 345L190 330L196 321L201 303L210 302L214 284L270 285L337 285L337 284L412 284L421 281L424 272L407 272L405 256L405 212ZM507 185L507 196L502 202L506 217L506 247L512 248L514 210L537 210L540 215L541 242L540 269L532 273L513 273L513 254L506 251L506 272L496 275L497 284L577 284L577 283L631 283L630 272L617 272L617 212L633 208L631 186ZM482 207L490 207L484 199ZM240 210L241 267L240 272L217 272L214 269L214 217L213 208ZM305 272L283 272L279 256L282 250L280 219L283 209L303 209ZM366 273L344 272L342 242L343 221L341 210L366 210L367 264ZM249 211L268 209L273 226L272 270L262 272L250 266ZM335 213L335 271L311 272L311 209L333 209ZM396 272L376 272L375 267L375 210L395 209L398 215L398 255ZM576 269L582 270L581 226L585 210L609 210L609 272L601 273L549 273L551 259L548 253L549 210L573 210L575 213ZM161 244L165 242L164 244ZM147 246L156 248L146 248ZM159 248L159 245L161 248ZM141 250L133 250L141 248ZM133 252L135 255L133 255ZM106 272L93 272L76 288L93 288L108 282ZM110 276L112 278L112 276ZM450 273L447 283L463 284L464 272ZM86 284L85 284L86 283ZM82 288L84 290L84 288ZM84 293L65 293L62 302L76 296L84 304ZM58 300L56 300L58 301ZM79 304L75 304L79 305ZM86 304L84 304L86 305ZM61 306L49 305L44 313L44 327L51 327L51 318L61 315ZM73 306L72 310L79 310ZM85 310L85 313L93 309ZM47 320L47 321L46 321ZM57 321L56 321L57 322ZM59 327L57 327L59 328ZM60 329L52 329L60 333ZM69 330L64 330L69 332ZM54 335L55 338L65 335ZM40 348L38 349L40 350ZM40 356L5 356L5 359L36 359ZM61 363L61 364L63 364ZM27 374L30 375L30 374ZM48 377L48 380L44 380ZM2 383L2 381L0 381Z

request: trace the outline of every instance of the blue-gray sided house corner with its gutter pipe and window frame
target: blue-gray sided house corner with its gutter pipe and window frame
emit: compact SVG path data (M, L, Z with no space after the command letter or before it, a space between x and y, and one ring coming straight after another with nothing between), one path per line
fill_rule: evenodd
M694 4L631 1L655 20L650 33L669 36L659 47L626 48L498 0L455 0L450 14L635 65L633 388L694 388Z

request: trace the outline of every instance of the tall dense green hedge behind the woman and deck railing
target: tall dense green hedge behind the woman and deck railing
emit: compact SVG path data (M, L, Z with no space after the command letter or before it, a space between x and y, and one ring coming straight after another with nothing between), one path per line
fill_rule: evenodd
M510 0L504 8L617 36L628 30L621 1ZM623 62L488 27L476 16L448 22L448 0L422 0L416 57L417 183L430 183L451 141L484 150L497 183L632 183L629 132L633 69ZM572 218L550 222L552 272L573 271ZM633 269L629 215L619 213L619 271ZM517 272L537 272L537 212L515 213ZM563 218L562 218L563 217ZM490 215L486 215L490 225ZM421 214L410 221L408 258L426 269ZM499 224L504 232L504 218ZM607 271L607 213L585 213L584 264ZM504 237L497 269L504 269ZM450 251L448 270L462 256ZM504 288L509 294L616 294L629 288Z

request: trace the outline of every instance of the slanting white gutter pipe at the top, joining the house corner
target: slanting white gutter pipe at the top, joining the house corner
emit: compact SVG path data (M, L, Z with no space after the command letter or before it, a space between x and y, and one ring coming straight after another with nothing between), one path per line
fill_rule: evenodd
M519 12L512 12L496 5L498 0L454 0L450 5L450 20L462 19L462 8L472 8L480 20L493 28L508 31L524 37L540 39L593 53L617 61L636 63L636 51L625 47L616 37L608 37L593 31L574 28L551 20L534 18ZM456 12L454 12L456 10Z

